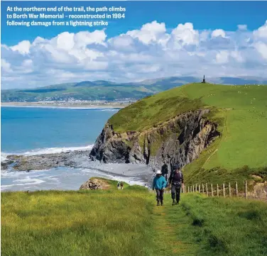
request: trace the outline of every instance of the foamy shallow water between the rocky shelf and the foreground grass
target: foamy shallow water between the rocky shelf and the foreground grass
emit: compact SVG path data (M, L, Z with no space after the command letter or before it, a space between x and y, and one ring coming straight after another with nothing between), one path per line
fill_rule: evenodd
M146 185L138 175L126 177L123 174L114 174L111 168L106 169L103 165L99 165L86 169L57 167L31 172L1 171L1 191L77 190L91 177L119 180L131 185Z

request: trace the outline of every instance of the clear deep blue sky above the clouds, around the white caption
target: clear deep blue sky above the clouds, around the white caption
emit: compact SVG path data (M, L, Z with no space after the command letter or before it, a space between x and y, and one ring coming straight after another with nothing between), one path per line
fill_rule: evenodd
M7 6L125 6L124 21L112 21L107 36L112 37L128 30L138 29L151 21L164 22L166 28L175 28L178 23L190 22L197 30L222 28L236 30L246 24L254 30L266 21L267 1L1 1L1 43L15 45L21 40L34 40L37 36L53 38L68 31L94 30L87 27L8 27ZM104 27L103 27L104 28Z

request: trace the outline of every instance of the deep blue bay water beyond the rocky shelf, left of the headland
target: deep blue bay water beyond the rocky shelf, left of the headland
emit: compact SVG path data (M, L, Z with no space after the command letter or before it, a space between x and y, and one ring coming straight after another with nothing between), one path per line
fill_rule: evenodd
M86 149L118 111L40 107L1 107L1 153L31 154Z

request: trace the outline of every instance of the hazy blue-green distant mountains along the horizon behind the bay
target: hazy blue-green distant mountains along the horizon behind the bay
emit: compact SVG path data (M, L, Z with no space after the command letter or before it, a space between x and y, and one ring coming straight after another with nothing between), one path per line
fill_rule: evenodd
M207 82L217 84L267 84L260 77L215 77ZM199 77L162 77L142 82L115 83L104 80L54 84L36 89L1 90L1 101L62 101L62 100L125 100L141 99L182 84L200 82Z

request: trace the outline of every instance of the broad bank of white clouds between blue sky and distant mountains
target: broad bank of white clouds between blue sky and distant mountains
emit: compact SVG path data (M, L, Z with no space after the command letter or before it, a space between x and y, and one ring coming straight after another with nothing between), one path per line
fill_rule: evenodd
M22 88L97 79L202 77L203 72L266 77L266 52L267 22L254 31L246 25L226 31L197 30L192 23L167 30L165 23L152 21L109 39L103 29L1 45L1 82L2 88Z

